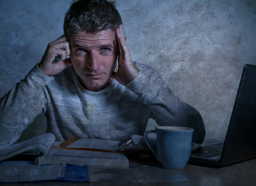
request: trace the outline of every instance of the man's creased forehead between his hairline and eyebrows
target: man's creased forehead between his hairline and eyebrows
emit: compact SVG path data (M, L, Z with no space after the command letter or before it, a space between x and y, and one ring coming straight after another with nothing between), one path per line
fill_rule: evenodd
M98 31L95 34L90 34L85 31L70 33L70 45L73 47L96 47L97 45L110 44L115 45L116 34L111 29Z

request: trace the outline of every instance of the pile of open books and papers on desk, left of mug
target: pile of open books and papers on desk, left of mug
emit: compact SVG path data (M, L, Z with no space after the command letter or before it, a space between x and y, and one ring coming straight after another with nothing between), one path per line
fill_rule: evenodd
M140 142L141 136L134 137L134 142L136 139ZM83 169L84 173L88 165L128 169L126 152L149 150L145 145L134 146L132 143L120 150L120 144L123 144L122 141L97 138L73 138L58 142L51 133L41 134L0 147L0 182L63 180L65 172L71 169L70 165ZM85 176L83 179L88 178Z

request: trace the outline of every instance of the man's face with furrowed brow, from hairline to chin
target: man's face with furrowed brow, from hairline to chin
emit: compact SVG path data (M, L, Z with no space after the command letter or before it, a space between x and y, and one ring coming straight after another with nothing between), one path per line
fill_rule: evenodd
M92 91L99 91L111 81L118 55L118 42L111 29L88 34L70 34L70 59L81 83ZM96 76L94 76L96 75Z

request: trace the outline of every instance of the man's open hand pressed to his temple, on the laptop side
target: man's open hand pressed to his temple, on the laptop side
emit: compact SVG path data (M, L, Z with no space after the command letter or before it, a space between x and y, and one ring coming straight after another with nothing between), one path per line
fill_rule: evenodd
M116 28L116 39L119 45L118 70L113 72L111 78L116 79L120 84L126 86L140 72L131 60L130 51L126 46L126 38L122 29L122 25Z

